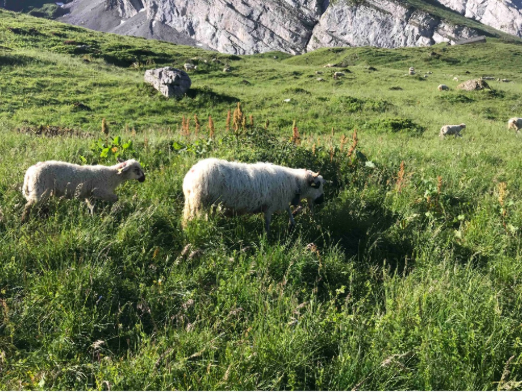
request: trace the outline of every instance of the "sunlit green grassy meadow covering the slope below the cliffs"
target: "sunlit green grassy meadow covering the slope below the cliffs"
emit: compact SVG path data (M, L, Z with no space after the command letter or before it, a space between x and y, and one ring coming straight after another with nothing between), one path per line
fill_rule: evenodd
M182 99L143 82L191 58ZM521 59L502 39L238 57L0 11L0 389L522 389ZM513 83L455 90L481 76ZM325 203L269 238L262 215L183 231L211 156L319 170ZM116 157L146 181L21 224L29 166Z

